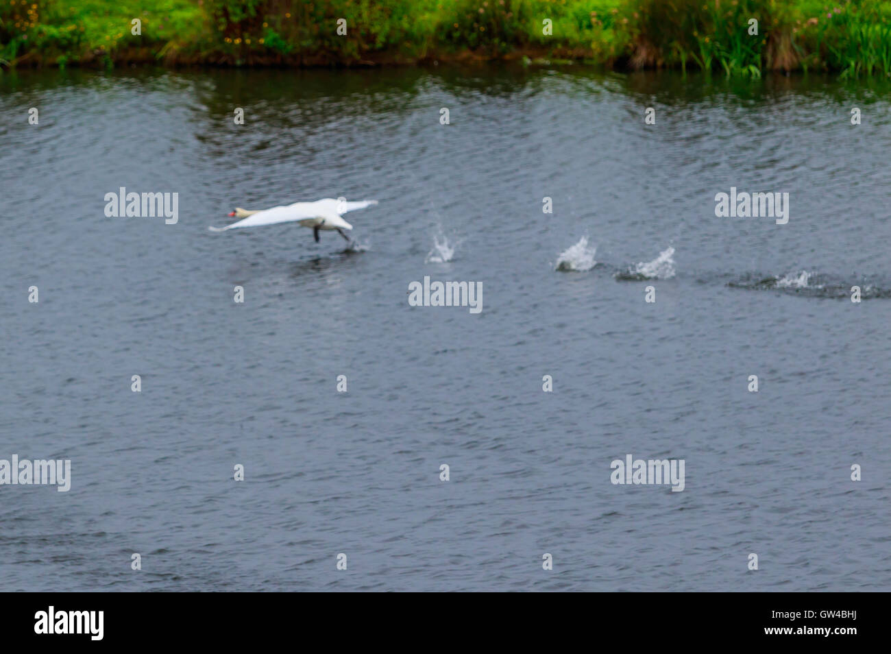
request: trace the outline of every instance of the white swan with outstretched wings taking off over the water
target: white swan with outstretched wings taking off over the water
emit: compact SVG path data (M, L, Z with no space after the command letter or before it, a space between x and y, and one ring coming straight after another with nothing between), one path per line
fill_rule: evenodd
M337 233L349 241L349 237L344 233L344 230L353 229L353 225L347 223L341 216L347 213L347 211L371 207L377 203L378 200L347 202L347 200L342 198L339 200L325 198L324 200L315 200L315 202L295 202L287 206L266 208L262 211L236 208L229 216L241 218L241 220L225 227L209 227L208 229L211 232L225 232L227 229L240 227L258 227L260 225L275 225L276 223L297 221L304 227L313 228L315 242L319 242L320 229L336 230Z

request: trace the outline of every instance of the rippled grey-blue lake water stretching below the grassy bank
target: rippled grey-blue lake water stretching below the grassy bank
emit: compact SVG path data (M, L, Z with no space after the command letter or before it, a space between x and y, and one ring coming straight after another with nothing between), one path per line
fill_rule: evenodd
M0 459L71 487L0 486L4 588L887 590L889 91L5 74ZM120 187L178 222L106 217ZM788 192L788 223L716 217L732 187ZM380 200L351 248L208 231L340 196ZM410 307L425 276L481 312ZM683 492L611 483L628 454L683 459Z

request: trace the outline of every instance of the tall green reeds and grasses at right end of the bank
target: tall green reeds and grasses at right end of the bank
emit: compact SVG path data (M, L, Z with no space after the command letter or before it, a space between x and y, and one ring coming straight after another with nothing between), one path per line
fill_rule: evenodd
M637 0L625 42L632 63L694 65L729 75L825 69L891 75L891 3L820 0ZM748 21L758 20L758 34ZM624 19L623 19L624 21Z

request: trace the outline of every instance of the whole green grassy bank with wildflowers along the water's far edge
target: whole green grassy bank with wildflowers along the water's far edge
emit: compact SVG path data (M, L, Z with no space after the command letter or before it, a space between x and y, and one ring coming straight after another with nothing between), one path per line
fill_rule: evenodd
M141 34L132 33L134 19ZM727 75L888 76L891 1L0 0L6 67L521 57Z

